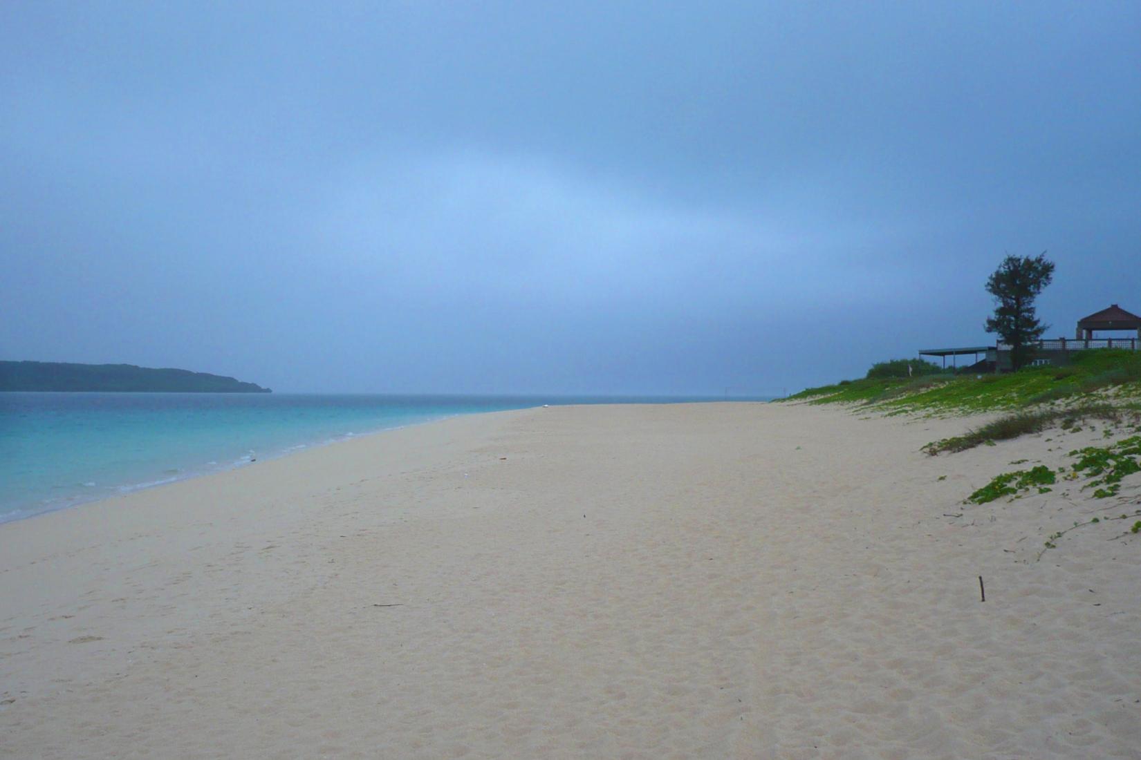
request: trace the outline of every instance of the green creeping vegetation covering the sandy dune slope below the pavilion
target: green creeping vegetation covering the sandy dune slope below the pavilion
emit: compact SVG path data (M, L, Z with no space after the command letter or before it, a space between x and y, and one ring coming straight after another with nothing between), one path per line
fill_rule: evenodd
M1051 428L1060 434L1083 428L1093 432L1094 423L1101 423L1103 446L1073 449L1052 466L1042 460L1011 461L1025 466L995 475L968 496L964 504L1019 499L1073 485L1076 491L1062 495L1067 501L1104 499L1112 504L1111 508L1122 509L1111 514L1095 508L1099 514L1092 518L1083 513L1084 521L1073 521L1073 526L1049 537L1038 558L1046 549L1054 548L1062 536L1078 528L1118 523L1124 525L1123 534L1141 531L1138 520L1141 509L1136 508L1141 502L1130 495L1135 491L1135 479L1127 492L1122 493L1126 485L1123 481L1141 473L1141 352L1085 351L1075 354L1069 367L1028 367L1005 375L938 373L914 378L865 377L808 389L786 401L848 403L887 415L926 417L998 412L962 435L931 441L923 447L931 456L996 446Z

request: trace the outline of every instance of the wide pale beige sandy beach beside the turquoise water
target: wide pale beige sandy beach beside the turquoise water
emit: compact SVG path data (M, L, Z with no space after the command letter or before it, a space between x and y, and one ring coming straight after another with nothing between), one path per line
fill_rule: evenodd
M1141 757L1141 540L962 504L1100 434L919 453L970 423L500 412L0 525L0 755Z

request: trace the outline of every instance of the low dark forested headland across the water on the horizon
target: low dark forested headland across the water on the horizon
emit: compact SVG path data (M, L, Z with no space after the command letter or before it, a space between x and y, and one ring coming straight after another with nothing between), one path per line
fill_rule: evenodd
M269 389L253 383L188 369L56 361L0 361L0 391L270 393Z

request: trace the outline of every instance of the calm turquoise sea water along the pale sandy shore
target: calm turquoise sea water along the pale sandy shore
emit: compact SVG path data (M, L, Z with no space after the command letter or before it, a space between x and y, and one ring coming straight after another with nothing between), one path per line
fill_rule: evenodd
M0 522L455 415L707 398L0 393Z

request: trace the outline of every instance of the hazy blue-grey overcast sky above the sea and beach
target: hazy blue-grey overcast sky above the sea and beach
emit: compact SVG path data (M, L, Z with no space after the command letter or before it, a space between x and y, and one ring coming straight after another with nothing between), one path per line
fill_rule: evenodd
M1141 311L1141 3L0 5L0 358L777 394Z

